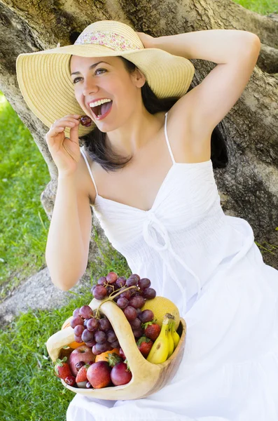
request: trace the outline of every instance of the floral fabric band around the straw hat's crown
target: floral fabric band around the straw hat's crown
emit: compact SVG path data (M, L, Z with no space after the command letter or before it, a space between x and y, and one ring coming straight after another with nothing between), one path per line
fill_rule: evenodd
M141 50L138 45L126 39L124 36L110 31L82 32L78 36L78 39L76 39L74 45L82 44L97 44L115 51Z

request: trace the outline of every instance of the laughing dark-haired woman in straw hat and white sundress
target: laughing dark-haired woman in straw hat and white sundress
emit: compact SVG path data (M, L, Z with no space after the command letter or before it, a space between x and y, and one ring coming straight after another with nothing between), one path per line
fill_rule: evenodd
M50 127L59 171L46 248L53 282L68 290L85 272L92 206L132 272L174 301L188 327L167 386L134 401L76 395L68 421L277 421L278 272L264 264L248 222L224 215L210 159L211 133L259 51L250 32L154 39L102 21L74 46L19 56L22 94ZM218 65L186 94L190 58ZM179 99L148 110L146 83L158 98ZM98 133L80 126L81 114Z

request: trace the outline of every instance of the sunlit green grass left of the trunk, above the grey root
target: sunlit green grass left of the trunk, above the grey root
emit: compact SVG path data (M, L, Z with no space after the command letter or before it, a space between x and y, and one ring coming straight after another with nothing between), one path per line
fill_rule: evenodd
M0 298L4 298L21 279L45 265L49 221L40 195L50 175L32 135L2 93L0 139Z

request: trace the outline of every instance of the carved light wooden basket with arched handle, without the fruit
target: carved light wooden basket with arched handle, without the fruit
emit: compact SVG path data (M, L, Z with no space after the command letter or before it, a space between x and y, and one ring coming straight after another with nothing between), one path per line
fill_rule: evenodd
M95 298L90 302L92 310L97 309L102 301ZM123 349L132 372L132 380L127 385L104 387L102 389L81 389L67 385L64 380L62 384L75 393L106 400L130 400L140 399L149 396L162 389L172 380L179 369L183 351L186 343L186 321L180 320L179 333L181 339L172 356L164 363L153 364L146 361L137 348L130 323L125 318L123 310L116 305L116 302L104 302L100 311L105 314L113 330L115 331L120 347ZM62 348L74 341L74 329L70 326L52 335L46 342L48 354L53 361L60 357Z

